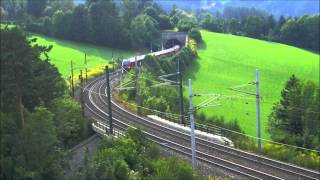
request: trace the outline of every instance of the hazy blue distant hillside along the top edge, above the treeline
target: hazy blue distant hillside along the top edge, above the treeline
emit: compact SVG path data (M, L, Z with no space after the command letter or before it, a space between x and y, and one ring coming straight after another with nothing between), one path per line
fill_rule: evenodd
M170 11L175 4L177 7L188 11L208 9L212 12L222 11L227 6L254 7L263 9L276 17L280 15L302 16L304 14L319 13L319 0L155 0L155 2L159 3L168 11Z

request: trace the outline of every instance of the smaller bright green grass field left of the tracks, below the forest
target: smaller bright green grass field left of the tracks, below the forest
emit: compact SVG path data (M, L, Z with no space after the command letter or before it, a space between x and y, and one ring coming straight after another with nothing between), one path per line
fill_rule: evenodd
M129 57L134 54L134 52L130 51L64 41L42 35L32 35L32 37L37 38L37 43L39 45L53 46L52 50L49 52L50 62L57 66L64 78L70 76L71 60L74 63L75 74L79 74L80 69L84 70L85 53L87 54L89 69L106 65L112 59L112 51L114 58Z

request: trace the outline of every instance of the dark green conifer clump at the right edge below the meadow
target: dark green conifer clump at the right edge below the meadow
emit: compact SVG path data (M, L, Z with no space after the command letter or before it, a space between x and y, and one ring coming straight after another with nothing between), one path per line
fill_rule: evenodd
M275 141L316 149L320 147L319 86L290 77L269 116ZM318 149L319 150L319 149Z

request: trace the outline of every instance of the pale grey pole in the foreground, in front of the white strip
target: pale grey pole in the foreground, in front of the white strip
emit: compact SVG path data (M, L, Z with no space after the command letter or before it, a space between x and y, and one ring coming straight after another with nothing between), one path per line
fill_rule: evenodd
M190 126L191 126L191 150L192 150L192 169L196 169L196 141L194 134L194 109L192 105L192 81L189 79L189 113L190 113Z

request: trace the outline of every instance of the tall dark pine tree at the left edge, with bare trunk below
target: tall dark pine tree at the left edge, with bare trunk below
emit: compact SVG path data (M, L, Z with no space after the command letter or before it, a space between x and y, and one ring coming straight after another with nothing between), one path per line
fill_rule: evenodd
M49 64L47 52L51 48L32 45L35 42L28 41L18 28L1 29L1 82L6 82L1 85L1 109L16 112L21 129L24 108L32 111L41 101L50 104L66 88L57 68ZM40 54L46 59L41 60Z

